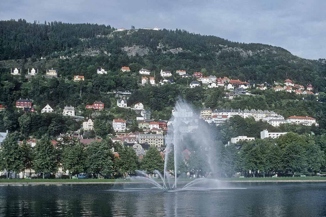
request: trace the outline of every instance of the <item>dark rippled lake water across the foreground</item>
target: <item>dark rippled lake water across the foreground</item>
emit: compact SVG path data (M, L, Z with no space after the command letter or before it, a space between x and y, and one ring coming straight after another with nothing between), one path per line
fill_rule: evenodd
M177 192L151 187L0 185L0 216L326 216L323 182L230 183L228 189Z

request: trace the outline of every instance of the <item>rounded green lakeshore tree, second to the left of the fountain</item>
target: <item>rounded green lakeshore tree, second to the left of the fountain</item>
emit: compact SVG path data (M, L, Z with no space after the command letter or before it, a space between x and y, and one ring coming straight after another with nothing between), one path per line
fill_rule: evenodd
M132 147L124 146L119 149L118 153L120 157L118 165L121 172L126 173L126 176L129 173L135 173L139 169L139 158Z

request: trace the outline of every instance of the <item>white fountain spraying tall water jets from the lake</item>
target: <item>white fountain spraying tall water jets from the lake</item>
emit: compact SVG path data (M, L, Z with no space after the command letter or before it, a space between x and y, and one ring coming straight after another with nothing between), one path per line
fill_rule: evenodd
M216 165L216 156L215 156L215 147L216 142L214 143L214 139L212 139L211 127L199 119L199 116L193 112L191 106L185 103L182 100L178 100L176 102L174 110L172 110L172 117L170 119L172 124L168 127L168 134L165 137L165 162L164 162L164 174L159 171L155 171L155 174L160 178L160 182L163 184L159 184L156 180L152 179L150 175L147 175L144 171L137 171L140 175L136 177L136 179L142 179L147 182L154 184L156 187L162 190L166 189L177 189L177 178L178 178L178 162L180 162L178 157L181 155L181 151L185 150L185 148L189 148L189 144L192 144L193 147L190 149L198 149L202 150L200 153L204 153L205 164L209 168L206 173L216 173L215 165ZM173 150L174 152L174 180L173 184L170 183L170 174L167 172L168 170L168 159L169 154ZM184 187L180 188L181 190L191 190L199 184L203 184L204 186L211 187L216 184L218 185L218 180L200 178L195 179L187 183ZM172 186L172 187L171 187Z

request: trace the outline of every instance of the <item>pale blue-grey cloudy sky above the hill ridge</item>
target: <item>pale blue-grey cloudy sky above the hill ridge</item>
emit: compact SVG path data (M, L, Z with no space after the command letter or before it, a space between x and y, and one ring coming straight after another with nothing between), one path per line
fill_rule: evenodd
M11 0L0 20L98 23L115 28L182 29L231 41L279 46L326 58L326 0Z

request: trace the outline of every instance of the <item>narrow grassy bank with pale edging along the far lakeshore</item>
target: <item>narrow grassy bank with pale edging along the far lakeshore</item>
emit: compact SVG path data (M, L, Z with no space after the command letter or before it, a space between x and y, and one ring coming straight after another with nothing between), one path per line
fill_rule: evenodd
M190 181L179 181L178 183L189 183ZM326 182L326 180L221 180L221 182ZM3 185L57 185L57 184L142 184L142 183L148 183L145 181L57 181L57 182L51 182L51 181L42 181L42 182L33 182L33 181L17 181L17 182L0 182L0 186Z

